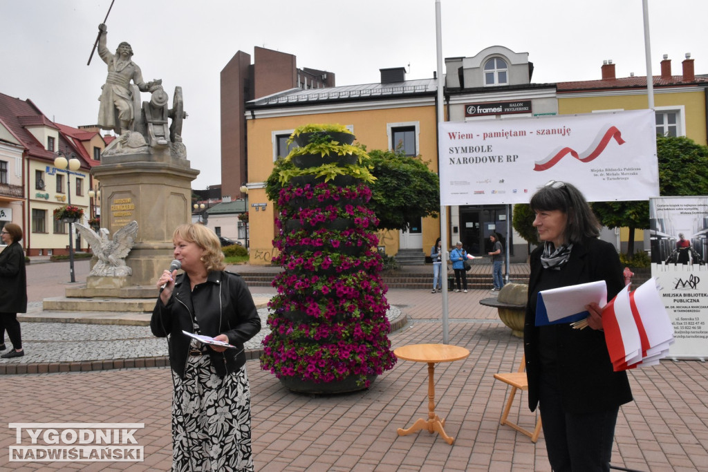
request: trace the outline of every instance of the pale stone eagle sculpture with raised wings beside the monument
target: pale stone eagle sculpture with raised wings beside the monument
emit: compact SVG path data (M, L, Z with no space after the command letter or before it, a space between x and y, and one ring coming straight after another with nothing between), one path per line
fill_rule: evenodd
M98 232L89 226L75 223L76 231L89 241L93 255L98 262L93 265L89 275L102 277L122 277L132 275L132 269L125 265L125 257L130 253L137 236L137 221L123 226L113 234L113 239L108 239L108 229L101 228Z

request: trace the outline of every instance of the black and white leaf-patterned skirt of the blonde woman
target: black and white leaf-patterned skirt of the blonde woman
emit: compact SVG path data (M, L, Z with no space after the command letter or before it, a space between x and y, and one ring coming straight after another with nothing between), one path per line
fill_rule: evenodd
M219 378L208 355L172 372L172 470L253 471L246 366Z

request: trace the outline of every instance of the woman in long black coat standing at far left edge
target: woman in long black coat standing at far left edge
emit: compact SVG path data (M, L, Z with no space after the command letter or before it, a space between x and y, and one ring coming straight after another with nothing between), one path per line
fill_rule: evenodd
M1 350L5 350L5 331L13 350L0 355L3 359L22 357L22 332L17 313L27 313L27 274L25 272L25 251L20 244L22 229L8 223L0 230L2 242L7 247L0 253L0 340Z

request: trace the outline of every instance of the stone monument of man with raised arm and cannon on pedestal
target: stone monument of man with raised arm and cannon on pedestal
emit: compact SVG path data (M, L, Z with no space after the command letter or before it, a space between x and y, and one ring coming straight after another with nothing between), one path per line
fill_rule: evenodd
M106 47L107 28L102 23L98 30L98 54L108 65L98 124L118 135L103 151L101 165L91 170L101 181L101 224L115 234L137 221L125 259L131 274L122 286L154 297L154 283L173 258L172 232L190 221L191 183L199 174L186 159L181 137L187 117L182 88L175 88L170 108L162 81L143 80L130 44L120 43L113 54Z

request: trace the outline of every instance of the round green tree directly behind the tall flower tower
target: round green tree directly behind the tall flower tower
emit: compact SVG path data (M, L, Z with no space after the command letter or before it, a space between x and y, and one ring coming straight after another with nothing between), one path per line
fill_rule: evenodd
M369 184L372 192L371 209L379 219L379 229L410 229L411 221L422 217L437 217L440 212L440 181L430 171L421 156L409 157L401 151L368 151L365 161L376 180ZM265 181L265 193L272 202L278 201L282 188L278 172L292 168L284 159Z

